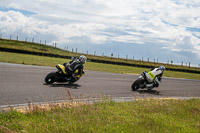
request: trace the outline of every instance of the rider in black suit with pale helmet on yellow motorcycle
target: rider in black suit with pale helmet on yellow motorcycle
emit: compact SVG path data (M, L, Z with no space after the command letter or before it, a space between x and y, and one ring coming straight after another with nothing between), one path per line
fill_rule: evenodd
M74 74L75 70L78 69L78 76L80 75L79 77L81 77L82 73L83 73L83 68L84 68L83 65L86 63L86 61L87 61L87 58L84 55L81 55L78 58L73 58L72 61L70 61L70 64L64 63L63 65L65 67L63 67L61 69L63 71L65 71L67 74L71 74L72 78L74 80L76 80L76 77L75 77L75 74Z

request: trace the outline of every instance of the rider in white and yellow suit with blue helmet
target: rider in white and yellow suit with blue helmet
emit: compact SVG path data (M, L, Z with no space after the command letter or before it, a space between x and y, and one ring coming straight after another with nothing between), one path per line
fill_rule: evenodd
M164 66L160 66L159 68L154 68L150 72L145 72L146 79L150 84L147 84L146 87L153 88L158 87L160 81L162 80L163 72L165 71Z

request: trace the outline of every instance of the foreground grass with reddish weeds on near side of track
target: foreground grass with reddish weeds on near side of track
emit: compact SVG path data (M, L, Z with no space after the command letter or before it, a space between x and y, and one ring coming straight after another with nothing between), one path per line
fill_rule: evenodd
M0 113L0 132L199 133L200 99L105 101L78 107Z

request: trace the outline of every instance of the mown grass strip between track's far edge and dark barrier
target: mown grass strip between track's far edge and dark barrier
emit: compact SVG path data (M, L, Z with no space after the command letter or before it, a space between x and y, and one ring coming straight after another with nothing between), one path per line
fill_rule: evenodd
M0 62L54 67L57 64L62 64L67 61L69 60L62 58L0 52ZM141 74L143 71L149 71L148 68L111 65L103 63L94 63L94 62L87 62L85 65L85 69L93 71L128 73L128 74ZM195 73L165 71L164 76L200 80L200 74L195 74Z

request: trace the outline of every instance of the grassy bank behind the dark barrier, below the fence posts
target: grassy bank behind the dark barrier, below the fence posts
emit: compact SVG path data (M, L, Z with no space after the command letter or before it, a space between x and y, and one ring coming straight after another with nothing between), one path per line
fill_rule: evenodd
M47 46L43 44L30 43L30 42L25 42L25 41L14 41L14 40L7 40L7 39L0 39L0 47L20 49L20 50L33 51L33 52L51 53L51 54L58 54L58 55L63 55L63 56L79 56L80 55L80 53L72 53L70 51L62 50L59 48L55 48L55 47ZM118 59L118 58L111 59L110 57L93 56L93 55L87 55L87 57L89 59L129 63L129 64L135 64L135 65L145 65L145 66L152 66L152 67L164 65L166 68L200 71L200 69L196 67L153 63L153 62L148 62L148 61L139 61L139 60L131 60L131 59L126 60L126 59Z

